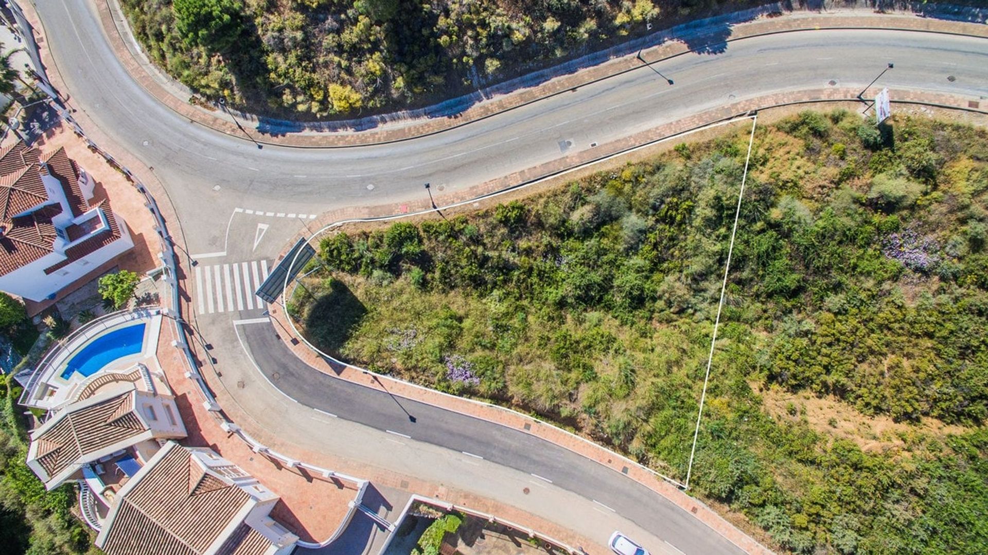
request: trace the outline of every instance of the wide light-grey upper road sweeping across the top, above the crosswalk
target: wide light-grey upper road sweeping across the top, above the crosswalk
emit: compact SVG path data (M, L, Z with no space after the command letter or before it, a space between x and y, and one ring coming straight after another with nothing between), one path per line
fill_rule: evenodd
M263 150L192 124L149 97L126 74L86 0L39 2L70 104L155 168L192 250L219 245L217 207L274 206L300 212L420 199L422 184L455 191L748 97L866 85L988 94L988 41L914 32L807 31L729 43L581 87L455 130L400 143ZM952 75L954 80L947 80ZM255 134L257 132L254 132ZM373 190L368 189L373 185ZM215 187L219 190L214 190ZM208 202L204 202L208 201ZM266 208L266 210L271 210Z

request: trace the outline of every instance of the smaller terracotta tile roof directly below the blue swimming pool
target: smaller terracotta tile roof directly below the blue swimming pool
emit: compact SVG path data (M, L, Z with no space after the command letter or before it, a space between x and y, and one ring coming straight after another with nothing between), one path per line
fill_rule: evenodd
M147 430L134 411L130 390L94 405L65 408L32 434L34 456L50 479L87 461L86 455Z

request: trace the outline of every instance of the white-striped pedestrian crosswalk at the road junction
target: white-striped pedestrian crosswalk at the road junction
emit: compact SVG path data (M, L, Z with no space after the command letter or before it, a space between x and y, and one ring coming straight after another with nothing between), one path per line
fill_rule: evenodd
M263 309L264 301L254 292L268 279L268 273L267 260L196 266L199 314Z

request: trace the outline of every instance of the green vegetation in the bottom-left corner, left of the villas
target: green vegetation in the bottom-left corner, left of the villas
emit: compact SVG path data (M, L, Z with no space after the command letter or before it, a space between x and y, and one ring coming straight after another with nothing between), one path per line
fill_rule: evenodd
M20 386L0 376L0 546L3 553L69 555L102 553L91 546L90 530L71 513L75 491L51 492L28 468L27 433L17 398Z

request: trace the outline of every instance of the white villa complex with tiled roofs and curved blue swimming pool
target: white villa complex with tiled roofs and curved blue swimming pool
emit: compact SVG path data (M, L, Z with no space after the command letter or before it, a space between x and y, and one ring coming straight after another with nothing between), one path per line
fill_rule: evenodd
M187 431L156 356L161 318L110 315L49 353L22 399L47 410L28 466L49 490L76 482L108 555L287 555L298 536L270 515L281 498L211 449L174 441ZM136 342L121 351L128 330ZM73 369L79 357L97 368Z

